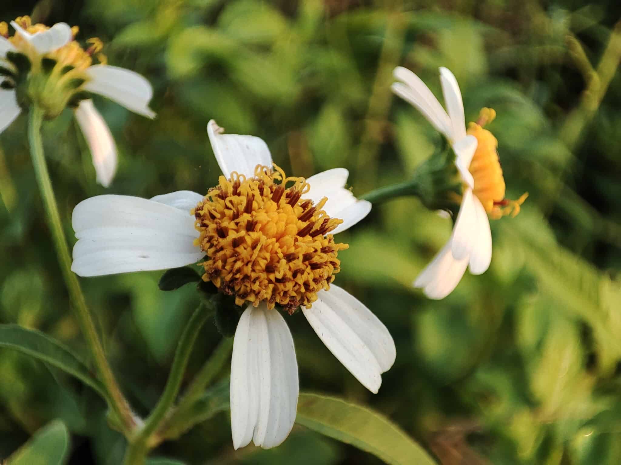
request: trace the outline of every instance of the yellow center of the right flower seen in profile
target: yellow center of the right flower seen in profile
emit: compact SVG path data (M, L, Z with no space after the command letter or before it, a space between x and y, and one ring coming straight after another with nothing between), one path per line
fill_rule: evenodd
M491 108L483 108L476 123L469 123L468 135L476 137L476 151L468 168L474 178L473 193L483 204L483 208L492 219L505 215L515 216L520 213L520 205L528 193L518 200L505 198L505 181L502 176L501 162L498 156L498 141L483 126L496 118Z

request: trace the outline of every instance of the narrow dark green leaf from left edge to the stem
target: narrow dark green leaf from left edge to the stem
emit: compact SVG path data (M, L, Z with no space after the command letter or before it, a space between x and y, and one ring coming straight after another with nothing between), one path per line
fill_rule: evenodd
M0 325L0 347L10 348L33 356L49 365L75 376L107 399L104 386L91 376L86 364L65 345L34 329L14 324Z

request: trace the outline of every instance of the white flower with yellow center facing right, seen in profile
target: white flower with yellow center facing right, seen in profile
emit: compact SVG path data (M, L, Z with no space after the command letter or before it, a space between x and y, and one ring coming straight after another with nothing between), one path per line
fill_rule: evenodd
M507 200L505 182L498 158L498 141L482 126L496 117L496 112L483 108L476 123L466 131L460 88L453 73L440 68L440 82L446 111L416 74L401 66L394 69L392 91L424 115L442 133L455 152L455 166L463 182L460 211L453 233L446 245L414 281L429 298L442 299L450 294L469 267L473 275L487 270L492 259L492 219L517 215L524 202ZM448 112L448 113L447 113Z

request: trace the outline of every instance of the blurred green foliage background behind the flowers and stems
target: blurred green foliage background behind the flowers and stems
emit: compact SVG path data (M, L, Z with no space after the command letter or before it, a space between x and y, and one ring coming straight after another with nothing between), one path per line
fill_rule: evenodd
M206 123L260 136L294 175L347 167L356 195L406 180L440 138L391 94L412 69L440 97L455 73L466 120L495 108L507 197L484 275L442 301L411 283L451 220L415 198L376 206L343 237L337 283L388 326L397 360L370 394L300 313L287 318L301 389L388 415L444 465L621 463L621 4L617 0L3 0L0 20L32 14L101 38L109 63L152 82L155 121L97 108L119 148L111 188L95 183L71 112L44 127L53 184L71 211L102 193L152 197L217 184ZM616 29L615 29L616 27ZM43 330L86 356L30 163L25 115L0 136L0 322ZM345 236L343 234L343 236ZM193 286L161 273L82 279L122 389L140 414L161 393ZM221 336L206 324L188 379ZM228 366L221 378L228 376ZM72 433L70 464L119 464L104 402L38 361L0 350L0 457L52 418ZM228 412L155 454L187 464L378 464L296 426L279 448L233 451Z

